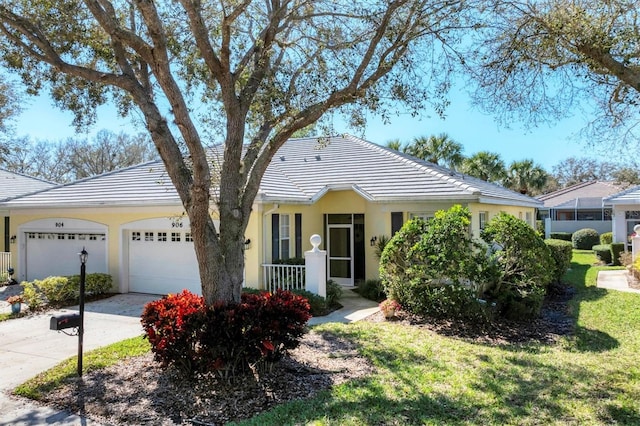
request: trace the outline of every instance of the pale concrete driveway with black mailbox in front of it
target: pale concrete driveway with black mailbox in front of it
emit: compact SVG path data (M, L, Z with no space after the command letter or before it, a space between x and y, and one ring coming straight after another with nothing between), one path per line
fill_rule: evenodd
M83 350L106 346L142 334L140 314L148 294L119 294L85 305ZM78 337L49 330L52 315L77 313L70 307L46 314L0 322L0 426L74 425L85 419L16 399L15 386L78 353ZM95 423L93 423L95 424Z

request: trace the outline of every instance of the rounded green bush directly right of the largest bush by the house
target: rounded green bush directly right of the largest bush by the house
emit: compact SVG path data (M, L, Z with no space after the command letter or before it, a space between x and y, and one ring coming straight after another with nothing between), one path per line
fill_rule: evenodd
M499 285L491 294L500 313L517 320L537 316L554 278L549 247L526 222L504 212L487 223L481 237L494 248L492 258L499 265Z

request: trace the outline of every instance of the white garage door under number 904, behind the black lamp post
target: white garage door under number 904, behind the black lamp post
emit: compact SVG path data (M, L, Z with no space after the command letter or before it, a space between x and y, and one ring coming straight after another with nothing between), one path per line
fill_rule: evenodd
M79 274L83 248L89 253L87 273L107 272L104 233L26 232L25 241L27 281Z

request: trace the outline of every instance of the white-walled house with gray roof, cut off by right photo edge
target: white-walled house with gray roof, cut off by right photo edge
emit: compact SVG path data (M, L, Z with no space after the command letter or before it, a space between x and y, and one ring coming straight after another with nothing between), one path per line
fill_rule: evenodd
M630 244L633 227L640 224L640 186L611 195L604 202L613 211L613 241Z

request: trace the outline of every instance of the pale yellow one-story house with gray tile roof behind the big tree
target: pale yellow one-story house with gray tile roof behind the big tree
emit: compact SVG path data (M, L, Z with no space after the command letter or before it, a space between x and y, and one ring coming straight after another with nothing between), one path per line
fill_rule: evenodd
M322 236L327 277L351 286L378 277L374 242L414 217L454 204L471 231L500 211L534 225L534 198L353 136L288 141L262 180L246 231L245 284L264 266L303 256ZM213 207L213 206L212 206ZM10 211L17 278L107 272L120 292L200 292L189 220L162 162L150 162L0 203ZM213 213L215 220L215 212Z

